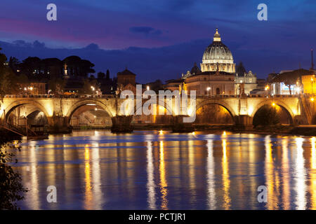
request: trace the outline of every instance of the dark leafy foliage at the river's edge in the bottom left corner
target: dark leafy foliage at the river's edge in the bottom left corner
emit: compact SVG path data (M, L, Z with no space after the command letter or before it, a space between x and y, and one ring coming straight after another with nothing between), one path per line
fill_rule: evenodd
M0 210L18 209L16 202L23 200L22 193L27 192L27 188L22 186L20 174L8 165L13 162L14 153L10 153L7 149L20 151L20 147L16 147L8 141L17 138L7 133L2 133L0 137Z

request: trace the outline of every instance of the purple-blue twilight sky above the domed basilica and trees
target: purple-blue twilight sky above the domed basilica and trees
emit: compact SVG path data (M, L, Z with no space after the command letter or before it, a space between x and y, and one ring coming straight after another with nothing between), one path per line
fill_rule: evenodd
M48 3L58 21L46 20ZM268 21L257 20L259 3ZM19 59L77 54L111 76L128 66L142 83L199 64L218 27L235 63L265 78L300 63L310 68L315 9L315 0L1 0L0 47Z

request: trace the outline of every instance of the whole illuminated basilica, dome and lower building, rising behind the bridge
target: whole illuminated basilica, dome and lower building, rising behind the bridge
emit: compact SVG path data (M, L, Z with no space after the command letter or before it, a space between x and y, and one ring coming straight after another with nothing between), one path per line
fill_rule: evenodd
M181 78L167 80L164 89L196 90L197 95L246 94L256 88L256 74L251 71L236 75L235 63L230 49L223 44L218 29L202 57L201 69L194 64L190 71L182 73ZM240 85L242 84L242 85Z

